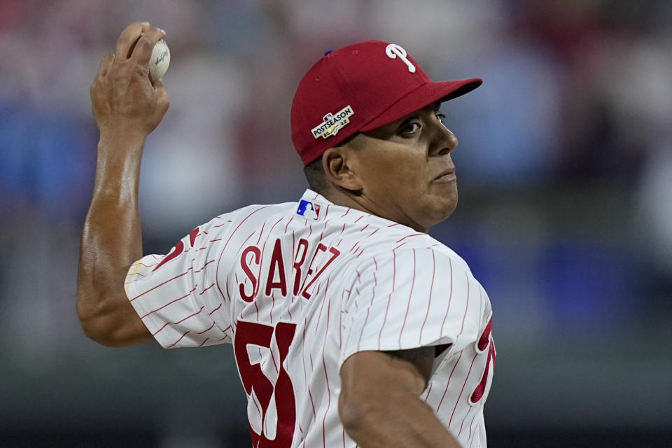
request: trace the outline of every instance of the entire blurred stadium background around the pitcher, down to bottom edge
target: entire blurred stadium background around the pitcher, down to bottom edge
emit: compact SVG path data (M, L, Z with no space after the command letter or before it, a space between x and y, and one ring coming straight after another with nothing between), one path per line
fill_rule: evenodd
M330 48L400 43L434 79L485 80L444 105L461 197L430 233L491 296L491 446L672 446L671 2L0 0L1 447L250 446L230 346L106 349L75 315L88 88L135 20L172 51L146 252L300 197L300 76Z

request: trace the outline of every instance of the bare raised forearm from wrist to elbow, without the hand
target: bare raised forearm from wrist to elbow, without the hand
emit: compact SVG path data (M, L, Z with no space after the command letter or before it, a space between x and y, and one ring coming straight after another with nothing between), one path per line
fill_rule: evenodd
M123 334L137 319L123 288L142 256L138 181L144 137L101 135L96 180L82 232L77 311L87 335L106 345L141 342ZM121 334L120 334L121 333Z

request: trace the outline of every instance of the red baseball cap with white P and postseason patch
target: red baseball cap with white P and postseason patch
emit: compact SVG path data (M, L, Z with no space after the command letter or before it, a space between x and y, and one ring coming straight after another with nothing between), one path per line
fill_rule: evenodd
M479 78L433 82L395 43L365 41L326 52L304 75L292 104L292 141L308 165L357 132L459 97Z

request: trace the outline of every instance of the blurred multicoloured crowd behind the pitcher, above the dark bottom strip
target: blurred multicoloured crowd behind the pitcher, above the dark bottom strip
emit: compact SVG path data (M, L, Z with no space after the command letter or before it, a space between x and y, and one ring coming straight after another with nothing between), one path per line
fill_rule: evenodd
M88 87L135 20L166 29L172 53L141 176L146 251L243 204L297 200L295 87L325 50L377 38L435 80L484 78L443 107L462 199L433 234L489 290L498 349L668 334L671 2L0 0L0 353L49 365L92 350L74 315Z

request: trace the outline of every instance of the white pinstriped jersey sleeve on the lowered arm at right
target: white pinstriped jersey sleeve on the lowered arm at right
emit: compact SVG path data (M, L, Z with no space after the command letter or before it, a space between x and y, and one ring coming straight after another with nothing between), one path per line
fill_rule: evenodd
M456 344L465 325L470 332L481 325L472 316L483 293L463 260L432 248L374 257L353 275L343 303L339 361L357 351Z

